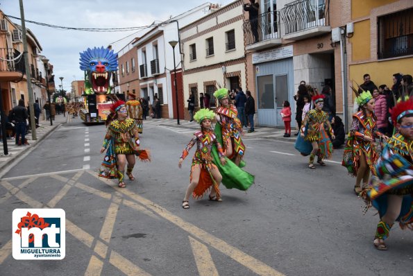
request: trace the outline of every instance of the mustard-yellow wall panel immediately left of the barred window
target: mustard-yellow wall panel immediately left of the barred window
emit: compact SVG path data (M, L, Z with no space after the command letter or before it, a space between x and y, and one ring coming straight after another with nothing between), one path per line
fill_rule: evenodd
M351 43L351 59L353 61L370 59L370 20L354 24L354 35L349 39Z

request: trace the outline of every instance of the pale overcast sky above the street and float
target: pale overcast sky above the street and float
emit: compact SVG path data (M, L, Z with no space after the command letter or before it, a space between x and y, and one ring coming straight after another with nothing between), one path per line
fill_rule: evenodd
M165 21L181 13L200 6L203 0L23 0L26 20L38 21L58 26L74 28L126 28L148 26L155 20ZM228 4L232 0L209 1ZM0 9L6 15L20 17L19 0L0 0ZM21 25L21 21L12 19ZM79 52L88 47L108 46L136 31L117 33L92 33L85 31L66 31L26 22L42 46L42 55L53 64L56 88L59 89L60 77L63 88L71 89L73 80L83 80L79 69ZM115 52L123 48L136 35L112 44Z

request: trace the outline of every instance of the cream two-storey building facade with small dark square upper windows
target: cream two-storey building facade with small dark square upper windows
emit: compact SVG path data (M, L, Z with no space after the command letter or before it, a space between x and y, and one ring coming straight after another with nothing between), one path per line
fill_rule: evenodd
M185 119L189 119L189 92L200 107L199 94L210 95L211 108L218 103L213 96L219 87L246 89L243 3L234 1L180 29L183 45L183 90Z

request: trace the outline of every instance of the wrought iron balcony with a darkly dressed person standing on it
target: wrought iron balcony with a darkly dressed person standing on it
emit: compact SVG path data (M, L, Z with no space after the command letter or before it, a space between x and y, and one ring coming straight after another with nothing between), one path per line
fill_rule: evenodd
M261 50L280 45L278 11L264 12L257 19L246 19L242 26L247 50Z

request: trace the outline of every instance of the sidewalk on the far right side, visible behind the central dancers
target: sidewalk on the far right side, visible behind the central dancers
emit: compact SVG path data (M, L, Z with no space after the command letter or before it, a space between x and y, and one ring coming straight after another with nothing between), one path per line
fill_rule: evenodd
M145 122L151 123L155 126L169 126L169 127L174 127L174 128L187 128L187 129L193 129L198 130L199 129L199 124L196 123L195 121L189 122L185 120L179 120L180 124L176 124L176 119L147 119L144 121L144 126ZM249 128L244 128L244 133L245 133L245 138L246 139L253 139L253 138L260 138L260 139L273 139L273 140L280 140L280 141L288 141L294 143L297 139L296 136L294 136L294 133L297 132L297 130L292 130L292 136L291 137L283 137L284 135L284 128L273 128L273 127L267 127L267 126L255 126L255 131L248 133L247 130Z

